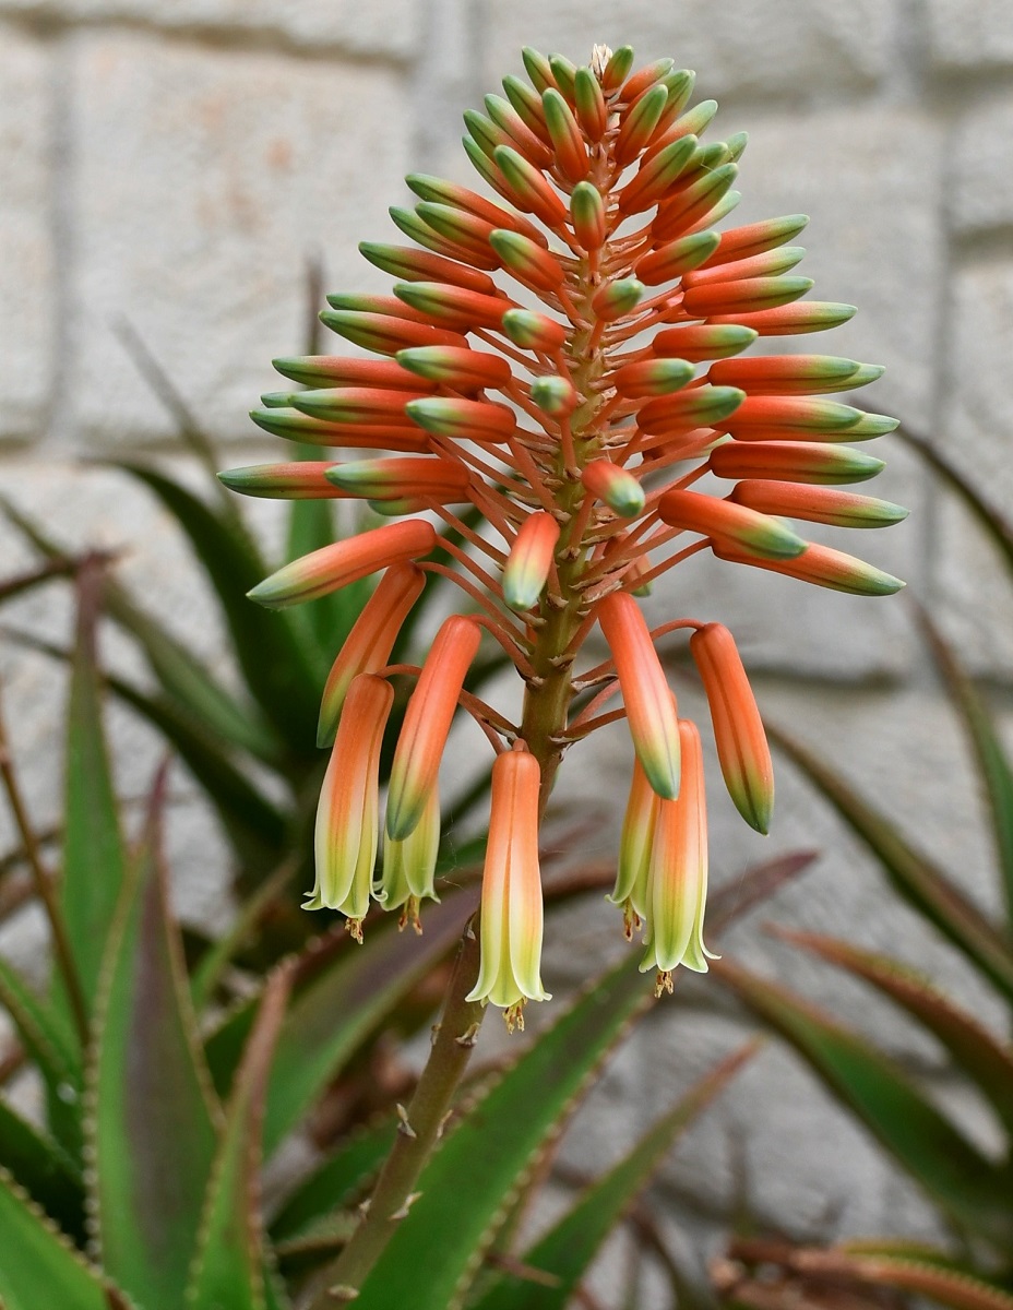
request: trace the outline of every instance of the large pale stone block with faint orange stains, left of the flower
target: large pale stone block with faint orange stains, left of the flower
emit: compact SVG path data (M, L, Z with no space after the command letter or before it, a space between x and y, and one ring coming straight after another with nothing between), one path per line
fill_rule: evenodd
M279 385L270 359L304 348L307 255L330 290L387 280L356 242L393 240L401 84L138 33L72 46L71 432L132 445L172 431L114 335L126 318L212 435L252 441L246 410Z

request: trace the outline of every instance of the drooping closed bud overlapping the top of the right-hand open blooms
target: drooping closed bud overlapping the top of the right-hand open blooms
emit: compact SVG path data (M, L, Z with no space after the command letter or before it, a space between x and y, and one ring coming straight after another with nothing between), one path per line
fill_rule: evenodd
M658 795L674 800L679 795L679 723L641 608L632 596L616 592L599 603L598 622L612 652L633 749Z

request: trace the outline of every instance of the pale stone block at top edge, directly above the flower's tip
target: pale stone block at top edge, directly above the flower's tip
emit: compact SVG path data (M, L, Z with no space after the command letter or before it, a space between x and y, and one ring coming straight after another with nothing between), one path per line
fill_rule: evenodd
M671 55L696 68L705 96L866 88L889 72L892 9L877 0L847 10L831 0L729 0L719 10L706 0L519 0L491 7L486 69L491 81L520 71L522 46L586 63L604 42L633 46L643 63Z

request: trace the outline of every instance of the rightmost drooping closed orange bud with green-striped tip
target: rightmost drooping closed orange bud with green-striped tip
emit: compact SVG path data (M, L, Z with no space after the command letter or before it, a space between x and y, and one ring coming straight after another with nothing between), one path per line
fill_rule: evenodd
M689 638L689 652L706 693L729 795L751 828L768 833L773 761L735 638L721 624L705 624Z

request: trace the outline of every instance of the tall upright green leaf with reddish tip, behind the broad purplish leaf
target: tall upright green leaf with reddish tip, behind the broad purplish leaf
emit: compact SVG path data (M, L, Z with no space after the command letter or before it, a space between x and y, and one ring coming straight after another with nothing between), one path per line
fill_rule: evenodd
M96 660L96 625L102 578L84 571L77 583L77 638L71 667L64 779L64 840L60 909L73 951L77 981L90 1011L98 992L102 954L123 887L126 852L102 728L102 684ZM55 1003L69 1011L56 976Z

